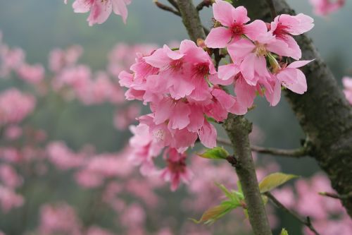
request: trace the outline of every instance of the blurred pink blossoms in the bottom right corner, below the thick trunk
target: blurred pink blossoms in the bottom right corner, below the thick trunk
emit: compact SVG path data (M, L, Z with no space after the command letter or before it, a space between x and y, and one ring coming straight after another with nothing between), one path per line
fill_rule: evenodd
M334 190L327 176L318 173L308 180L298 179L294 191L290 186L285 186L275 190L273 195L289 209L309 216L319 234L352 234L351 218L341 201L320 195L320 192L334 193ZM314 234L307 227L303 227L303 233Z

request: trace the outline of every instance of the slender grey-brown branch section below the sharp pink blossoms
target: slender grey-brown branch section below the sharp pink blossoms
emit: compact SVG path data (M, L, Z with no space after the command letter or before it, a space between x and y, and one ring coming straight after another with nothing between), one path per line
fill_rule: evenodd
M229 115L222 125L227 131L237 157L236 172L244 192L249 222L256 235L271 235L271 229L258 187L256 169L252 158L249 133L252 124L244 116Z

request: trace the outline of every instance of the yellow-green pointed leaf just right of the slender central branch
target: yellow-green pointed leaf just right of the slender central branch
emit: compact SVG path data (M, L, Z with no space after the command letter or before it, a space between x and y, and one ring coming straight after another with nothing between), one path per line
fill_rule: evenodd
M260 193L271 191L273 188L277 188L283 183L289 181L290 179L294 179L297 177L298 176L294 174L284 174L281 172L270 174L259 183Z

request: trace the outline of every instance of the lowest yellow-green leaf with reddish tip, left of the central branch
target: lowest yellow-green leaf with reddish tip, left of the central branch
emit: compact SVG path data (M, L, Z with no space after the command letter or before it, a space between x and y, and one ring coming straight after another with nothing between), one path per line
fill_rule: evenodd
M228 212L230 212L234 207L228 201L223 202L221 205L217 205L215 207L211 207L210 209L206 210L201 216L201 219L191 219L196 224L204 223L204 224L213 224L216 220L220 219Z

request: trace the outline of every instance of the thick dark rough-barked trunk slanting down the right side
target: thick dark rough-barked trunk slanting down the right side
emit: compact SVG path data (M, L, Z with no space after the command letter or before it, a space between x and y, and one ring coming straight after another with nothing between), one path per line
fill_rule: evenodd
M294 14L284 0L273 2L277 13ZM246 6L252 19L270 22L266 0L239 0L234 4ZM352 192L352 109L312 40L306 35L296 37L296 40L303 59L315 61L303 68L308 92L305 95L287 92L287 100L306 133L311 149L309 155L318 161L339 195L347 195ZM342 203L352 217L352 198L344 198Z

